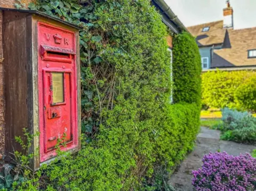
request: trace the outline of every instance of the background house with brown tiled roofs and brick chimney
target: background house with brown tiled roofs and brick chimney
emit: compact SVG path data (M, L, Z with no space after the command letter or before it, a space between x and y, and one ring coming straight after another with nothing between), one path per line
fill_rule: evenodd
M233 14L227 1L223 20L188 27L196 37L203 71L256 69L256 27L234 29Z

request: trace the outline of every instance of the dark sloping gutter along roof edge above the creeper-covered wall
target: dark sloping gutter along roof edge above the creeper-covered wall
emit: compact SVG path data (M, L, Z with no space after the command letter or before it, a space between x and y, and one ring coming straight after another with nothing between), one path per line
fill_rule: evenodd
M177 26L177 28L179 29L180 32L182 31L186 31L189 32L188 29L184 26L184 24L179 20L179 18L173 13L173 11L171 10L171 8L169 7L169 5L167 5L165 3L164 0L153 0L157 6L163 11L163 14L166 14L167 17L174 22L174 24ZM163 19L163 22L166 22Z

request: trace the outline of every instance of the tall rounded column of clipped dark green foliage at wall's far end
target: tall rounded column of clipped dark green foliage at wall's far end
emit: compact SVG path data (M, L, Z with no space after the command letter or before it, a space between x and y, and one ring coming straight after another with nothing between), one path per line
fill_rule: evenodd
M183 32L173 40L174 103L201 106L201 56L193 36Z

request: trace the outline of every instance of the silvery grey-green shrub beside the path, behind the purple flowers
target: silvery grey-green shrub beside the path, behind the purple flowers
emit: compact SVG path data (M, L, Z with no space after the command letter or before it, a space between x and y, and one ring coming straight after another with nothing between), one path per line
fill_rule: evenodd
M256 143L256 118L250 113L225 108L222 115L222 139L239 143Z

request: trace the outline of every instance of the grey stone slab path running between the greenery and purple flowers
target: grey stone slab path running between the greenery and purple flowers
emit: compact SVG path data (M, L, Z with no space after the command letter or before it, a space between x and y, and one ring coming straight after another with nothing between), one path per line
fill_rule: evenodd
M209 152L227 152L228 154L237 156L240 153L251 153L256 149L253 145L244 145L234 142L220 140L220 131L211 130L201 127L201 132L197 136L196 147L186 159L181 163L177 172L171 176L169 184L177 191L192 191L191 179L193 175L191 171L197 170L202 166L202 158Z

